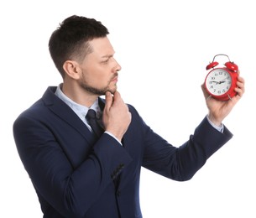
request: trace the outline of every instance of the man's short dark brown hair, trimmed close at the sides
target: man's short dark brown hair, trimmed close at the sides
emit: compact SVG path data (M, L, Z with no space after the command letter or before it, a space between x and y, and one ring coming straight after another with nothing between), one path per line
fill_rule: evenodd
M63 65L66 60L83 60L86 54L91 53L88 42L107 34L107 28L93 18L76 15L65 18L49 40L50 55L60 75L65 75Z

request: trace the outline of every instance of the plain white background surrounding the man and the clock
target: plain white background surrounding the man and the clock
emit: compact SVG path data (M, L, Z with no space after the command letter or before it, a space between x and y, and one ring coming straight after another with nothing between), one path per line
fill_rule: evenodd
M61 82L48 40L73 14L96 18L107 26L123 67L118 82L123 100L175 146L184 143L206 115L201 93L206 65L215 54L227 54L238 64L246 92L224 121L234 134L232 140L190 181L175 182L143 169L141 207L145 218L256 217L253 0L1 3L0 217L42 217L18 158L12 126L47 86ZM154 117L159 108L161 116Z

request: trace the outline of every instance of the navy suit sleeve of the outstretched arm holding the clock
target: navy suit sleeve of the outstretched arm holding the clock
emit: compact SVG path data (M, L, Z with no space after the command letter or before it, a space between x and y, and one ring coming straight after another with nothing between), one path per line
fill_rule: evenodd
M232 138L232 133L227 127L223 133L218 132L205 117L189 140L176 148L159 137L145 123L143 125L144 167L178 181L191 179L206 163L207 158Z

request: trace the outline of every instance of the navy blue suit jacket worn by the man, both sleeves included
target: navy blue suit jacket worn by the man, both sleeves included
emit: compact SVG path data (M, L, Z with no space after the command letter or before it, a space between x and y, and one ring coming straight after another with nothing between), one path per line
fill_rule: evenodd
M49 87L13 124L18 154L44 217L142 217L141 166L170 179L191 179L232 138L227 127L218 132L204 118L190 139L176 148L129 105L132 122L122 147L107 133L95 139L76 113L55 96L55 89Z

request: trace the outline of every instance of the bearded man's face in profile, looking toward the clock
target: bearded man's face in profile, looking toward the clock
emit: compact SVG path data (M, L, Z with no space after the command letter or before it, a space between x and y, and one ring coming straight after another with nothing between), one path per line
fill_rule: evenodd
M114 50L107 37L90 41L92 52L81 63L80 86L91 94L105 95L117 90L118 71L121 66L113 58Z

